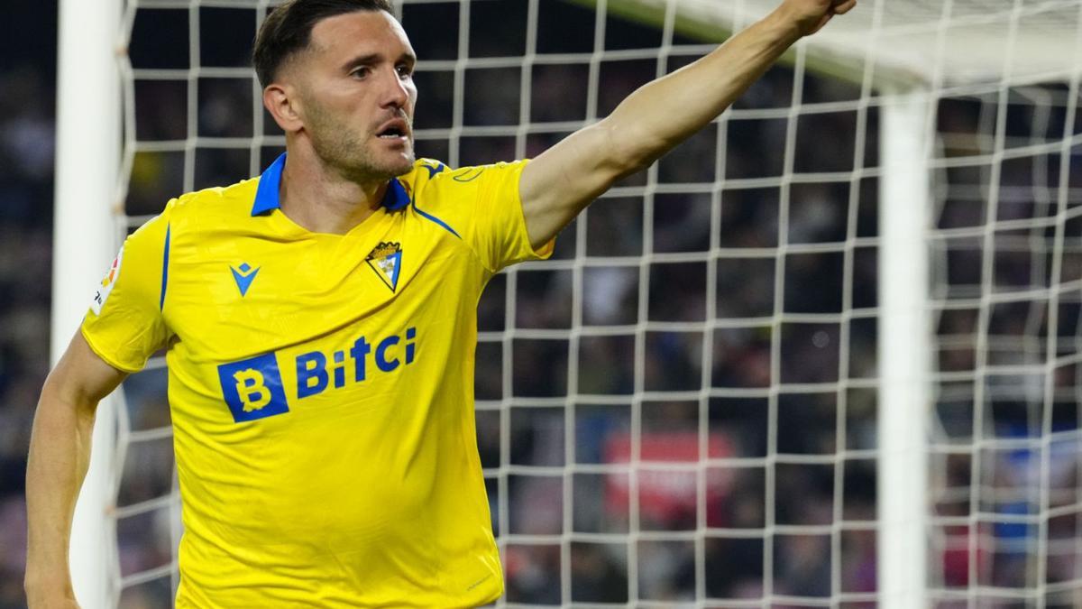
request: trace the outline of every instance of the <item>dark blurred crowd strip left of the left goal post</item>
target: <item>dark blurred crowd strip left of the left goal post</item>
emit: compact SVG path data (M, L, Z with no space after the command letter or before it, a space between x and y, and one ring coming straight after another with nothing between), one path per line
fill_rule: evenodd
M23 481L49 368L55 2L5 7L0 37L0 607L23 606Z

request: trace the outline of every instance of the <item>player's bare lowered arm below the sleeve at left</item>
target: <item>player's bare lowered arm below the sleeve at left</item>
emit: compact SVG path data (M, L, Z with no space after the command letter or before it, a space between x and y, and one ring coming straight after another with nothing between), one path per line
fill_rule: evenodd
M30 607L74 604L68 544L76 497L90 464L94 413L126 376L77 333L41 389L26 468L24 584Z

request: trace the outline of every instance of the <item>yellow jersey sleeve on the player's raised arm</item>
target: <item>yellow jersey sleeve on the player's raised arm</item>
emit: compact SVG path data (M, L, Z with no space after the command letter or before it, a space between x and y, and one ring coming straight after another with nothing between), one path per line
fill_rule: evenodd
M415 207L465 241L493 273L524 260L549 258L553 242L533 249L526 231L518 180L527 163L444 170L418 194Z

